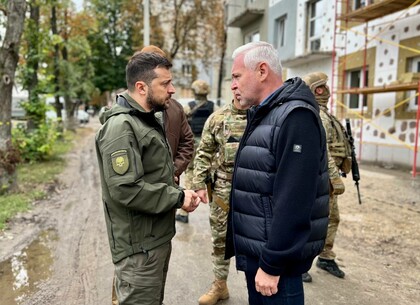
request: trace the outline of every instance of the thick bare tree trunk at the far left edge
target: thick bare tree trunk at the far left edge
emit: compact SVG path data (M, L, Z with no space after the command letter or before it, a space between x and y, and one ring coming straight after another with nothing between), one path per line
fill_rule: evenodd
M7 24L3 45L0 49L0 155L8 156L12 140L12 90L19 60L19 46L26 13L26 0L7 2ZM10 160L0 160L0 189L10 189L16 183L15 173L6 168Z

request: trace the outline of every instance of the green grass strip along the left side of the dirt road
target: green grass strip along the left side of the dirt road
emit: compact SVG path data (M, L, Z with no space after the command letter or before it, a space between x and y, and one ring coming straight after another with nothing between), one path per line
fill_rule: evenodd
M53 147L49 160L33 164L19 164L17 167L18 190L0 196L0 230L7 226L7 220L19 212L28 211L32 202L46 197L48 185L57 183L57 176L64 170L64 155L73 148L79 133L65 132Z

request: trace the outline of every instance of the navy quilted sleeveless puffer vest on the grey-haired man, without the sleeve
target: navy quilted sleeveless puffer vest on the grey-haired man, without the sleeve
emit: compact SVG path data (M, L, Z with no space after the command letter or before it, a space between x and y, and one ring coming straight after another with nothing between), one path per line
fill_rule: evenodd
M277 147L276 138L288 115L295 109L310 110L318 121L321 135L321 160L317 178L316 197L312 205L311 230L298 257L283 266L282 274L301 274L306 272L313 258L324 246L328 227L329 213L329 179L325 133L319 119L319 108L315 103L300 99L301 80L293 80L270 98L271 105L261 111L250 110L248 126L237 152L234 170L234 181L231 192L231 211L226 243L226 258L236 255L237 268L246 270L247 258L260 259L262 249L267 242L271 229L273 194L276 189L278 158L282 147ZM304 89L304 88L303 88ZM288 91L290 96L288 96ZM303 90L302 98L305 99ZM309 94L310 91L308 89ZM286 96L285 96L286 95ZM312 94L311 94L312 95ZM313 97L312 97L313 99ZM261 113L261 112L265 112ZM255 118L258 116L259 118ZM305 190L302 190L304 192ZM243 204L245 203L246 204ZM237 204L239 206L237 206ZM290 213L299 211L291 208ZM279 232L282 234L282 232Z

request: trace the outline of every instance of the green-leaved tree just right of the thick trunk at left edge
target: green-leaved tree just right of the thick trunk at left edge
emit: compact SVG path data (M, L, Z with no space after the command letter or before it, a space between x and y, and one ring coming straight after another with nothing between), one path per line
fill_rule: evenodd
M87 103L95 90L86 39L92 19L72 10L68 0L32 0L30 5L25 31L28 43L20 69L22 84L30 92L27 114L43 121L45 102L39 95L48 94L54 96L57 117L61 117L63 97L65 125L74 129L75 110L79 103Z

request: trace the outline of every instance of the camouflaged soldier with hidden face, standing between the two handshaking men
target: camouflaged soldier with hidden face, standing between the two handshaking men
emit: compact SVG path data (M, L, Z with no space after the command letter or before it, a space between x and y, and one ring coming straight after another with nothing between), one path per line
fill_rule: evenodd
M229 298L226 280L230 260L225 260L225 240L233 163L246 127L246 110L235 99L215 111L206 121L194 158L192 187L203 202L210 201L210 228L213 244L213 273L210 290L198 300L213 305ZM212 188L208 188L211 177ZM209 190L209 192L207 192Z

